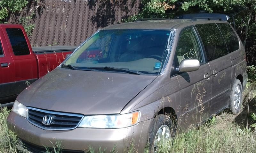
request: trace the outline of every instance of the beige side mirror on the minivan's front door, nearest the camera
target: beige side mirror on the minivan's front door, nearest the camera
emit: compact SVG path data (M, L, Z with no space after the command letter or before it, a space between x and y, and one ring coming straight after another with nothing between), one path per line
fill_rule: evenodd
M179 72L191 72L196 71L200 67L200 63L197 59L184 59L180 62Z

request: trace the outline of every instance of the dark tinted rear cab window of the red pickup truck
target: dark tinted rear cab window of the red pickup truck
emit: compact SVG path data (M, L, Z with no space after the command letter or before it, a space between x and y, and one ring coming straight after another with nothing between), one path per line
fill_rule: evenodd
M20 28L7 28L14 55L28 55L29 49L25 36Z

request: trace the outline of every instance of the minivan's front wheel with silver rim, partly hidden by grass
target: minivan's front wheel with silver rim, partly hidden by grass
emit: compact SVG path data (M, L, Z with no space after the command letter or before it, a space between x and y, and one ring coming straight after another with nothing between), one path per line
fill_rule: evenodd
M157 115L149 130L149 152L157 152L159 141L168 140L173 137L173 131L174 126L171 118L163 114Z

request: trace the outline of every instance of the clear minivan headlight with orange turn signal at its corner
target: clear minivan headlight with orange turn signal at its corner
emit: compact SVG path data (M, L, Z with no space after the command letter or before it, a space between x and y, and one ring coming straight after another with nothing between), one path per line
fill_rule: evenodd
M136 125L139 120L139 111L118 115L84 116L78 128L126 128Z

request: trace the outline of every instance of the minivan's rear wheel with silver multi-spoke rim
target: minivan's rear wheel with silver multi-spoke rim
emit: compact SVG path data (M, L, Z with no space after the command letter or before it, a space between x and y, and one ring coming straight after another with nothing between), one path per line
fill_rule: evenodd
M243 102L243 88L240 80L236 79L229 97L229 109L233 114L237 114L241 111L241 106Z

